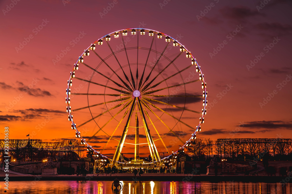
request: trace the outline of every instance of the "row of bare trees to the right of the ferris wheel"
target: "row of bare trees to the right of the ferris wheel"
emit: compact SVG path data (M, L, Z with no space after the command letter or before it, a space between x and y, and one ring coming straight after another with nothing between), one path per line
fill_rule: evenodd
M260 153L277 159L292 156L291 138L197 138L186 147L187 154L196 159L218 155L221 158L253 158ZM262 154L261 154L262 155Z

